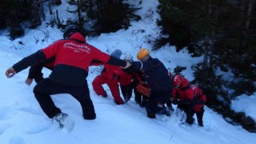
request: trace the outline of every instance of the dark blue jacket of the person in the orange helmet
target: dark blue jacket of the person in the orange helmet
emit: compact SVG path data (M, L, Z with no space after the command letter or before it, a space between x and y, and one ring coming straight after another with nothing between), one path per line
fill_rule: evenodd
M137 70L145 70L145 79L149 83L151 92L162 94L171 92L173 82L168 75L168 70L158 58L149 58L147 62L132 62L132 67Z

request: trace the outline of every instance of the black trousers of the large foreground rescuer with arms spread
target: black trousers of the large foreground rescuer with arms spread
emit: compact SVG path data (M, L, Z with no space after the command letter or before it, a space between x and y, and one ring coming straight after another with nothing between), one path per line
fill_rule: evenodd
M85 86L67 86L51 81L49 78L38 82L34 86L34 96L38 100L43 112L49 117L54 118L61 110L54 105L50 95L70 94L80 102L82 114L85 119L95 119L94 104L90 99L90 91L87 84Z

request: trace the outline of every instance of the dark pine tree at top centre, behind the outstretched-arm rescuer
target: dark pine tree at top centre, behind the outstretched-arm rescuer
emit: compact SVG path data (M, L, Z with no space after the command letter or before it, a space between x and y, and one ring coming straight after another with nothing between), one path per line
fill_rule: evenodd
M127 29L130 26L130 19L140 18L134 14L134 10L137 9L123 3L122 0L70 0L68 2L70 5L77 6L77 10L68 11L78 14L78 25L83 26L92 35ZM86 16L82 16L85 14Z

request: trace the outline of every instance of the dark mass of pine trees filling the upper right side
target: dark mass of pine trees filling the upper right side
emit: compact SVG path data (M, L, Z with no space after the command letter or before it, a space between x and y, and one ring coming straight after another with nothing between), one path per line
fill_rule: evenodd
M216 86L202 79L218 78L222 83L218 88L222 90L210 93L215 98L217 95L222 95L227 100L228 97L233 97L226 95L227 89L224 87L234 89L234 94L242 94L242 90L238 89L241 83L245 85L244 93L255 91L255 0L159 2L162 19L158 24L162 26L165 37L159 38L155 49L169 42L177 50L187 48L194 55L203 54L203 62L194 69L195 81L204 85L208 91L214 91ZM219 70L230 71L237 82L222 80L219 78Z

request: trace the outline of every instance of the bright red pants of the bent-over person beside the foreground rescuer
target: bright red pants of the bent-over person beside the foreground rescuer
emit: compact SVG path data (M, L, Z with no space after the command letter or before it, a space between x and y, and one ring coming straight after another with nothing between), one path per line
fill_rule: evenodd
M124 104L122 98L120 97L119 92L119 85L118 85L118 79L117 78L106 78L104 75L98 75L96 78L94 78L93 81L93 88L96 94L98 95L106 95L106 90L103 89L102 85L106 84L110 87L110 91L112 96L114 97L115 102L120 105Z

